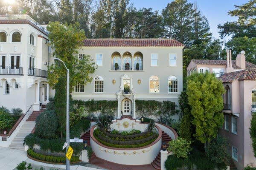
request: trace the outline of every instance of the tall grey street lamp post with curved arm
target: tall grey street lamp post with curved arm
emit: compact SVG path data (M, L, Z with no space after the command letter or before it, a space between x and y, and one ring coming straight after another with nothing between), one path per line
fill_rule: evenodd
M66 70L67 70L67 111L66 111L66 116L67 116L67 122L66 122L66 142L67 142L67 147L66 147L66 153L67 153L67 150L70 146L70 132L69 132L69 69L67 68L67 66L65 65L65 63L59 59L59 58L55 58L56 60L59 60L61 61ZM70 160L67 159L66 157L66 170L70 170Z

